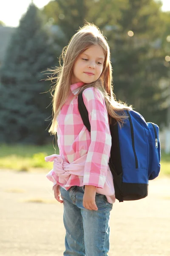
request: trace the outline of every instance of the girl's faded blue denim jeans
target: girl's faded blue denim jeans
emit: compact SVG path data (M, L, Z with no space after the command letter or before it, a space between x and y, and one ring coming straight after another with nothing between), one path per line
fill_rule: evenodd
M105 195L96 194L97 211L82 205L83 187L73 186L68 191L60 187L64 205L64 256L108 256L109 218L113 204Z

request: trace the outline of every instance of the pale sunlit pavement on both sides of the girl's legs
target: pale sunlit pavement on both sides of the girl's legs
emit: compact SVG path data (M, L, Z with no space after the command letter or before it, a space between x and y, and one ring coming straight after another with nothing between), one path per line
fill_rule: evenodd
M0 256L62 256L63 206L45 173L0 170ZM147 198L113 204L109 256L170 256L170 179Z

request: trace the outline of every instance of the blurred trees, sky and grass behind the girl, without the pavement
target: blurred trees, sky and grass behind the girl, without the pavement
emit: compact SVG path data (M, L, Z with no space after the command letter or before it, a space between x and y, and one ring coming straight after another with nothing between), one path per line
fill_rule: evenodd
M48 168L44 156L54 153L55 138L48 133L45 70L59 65L62 48L85 21L108 39L116 99L159 125L170 173L169 0L2 0L0 168Z

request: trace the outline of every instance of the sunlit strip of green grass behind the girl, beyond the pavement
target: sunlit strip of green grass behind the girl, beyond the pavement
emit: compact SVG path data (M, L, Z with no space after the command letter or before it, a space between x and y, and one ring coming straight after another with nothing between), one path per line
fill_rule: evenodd
M13 169L24 172L48 172L52 169L53 163L46 163L45 156L59 154L53 145L0 145L0 169ZM170 177L170 154L161 154L160 176Z

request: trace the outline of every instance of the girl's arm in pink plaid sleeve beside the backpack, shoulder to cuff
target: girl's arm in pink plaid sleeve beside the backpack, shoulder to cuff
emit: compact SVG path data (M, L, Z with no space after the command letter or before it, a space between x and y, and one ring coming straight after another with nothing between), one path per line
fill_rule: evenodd
M103 188L111 151L111 133L104 96L94 87L82 93L91 124L91 144L88 149L83 185Z

